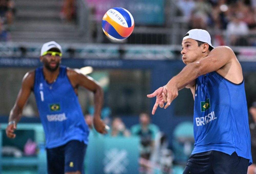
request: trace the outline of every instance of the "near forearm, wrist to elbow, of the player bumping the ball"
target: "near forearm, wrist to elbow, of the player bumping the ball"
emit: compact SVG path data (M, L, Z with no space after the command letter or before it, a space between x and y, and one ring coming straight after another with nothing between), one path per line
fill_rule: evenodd
M185 88L191 81L195 80L200 75L200 63L194 62L188 64L183 70L174 76L167 85L176 85L178 90Z

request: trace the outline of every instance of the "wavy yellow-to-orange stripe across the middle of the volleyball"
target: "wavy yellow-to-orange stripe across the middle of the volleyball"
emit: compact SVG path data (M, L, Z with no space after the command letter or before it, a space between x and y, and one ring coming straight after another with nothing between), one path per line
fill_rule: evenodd
M113 19L111 19L107 15L107 13L105 13L102 20L106 20L108 23L110 23L114 27L114 29L118 32L118 34L120 34L120 36L122 36L122 37L130 36L134 29L134 24L131 27L123 27L123 26L119 25L118 23L116 23Z

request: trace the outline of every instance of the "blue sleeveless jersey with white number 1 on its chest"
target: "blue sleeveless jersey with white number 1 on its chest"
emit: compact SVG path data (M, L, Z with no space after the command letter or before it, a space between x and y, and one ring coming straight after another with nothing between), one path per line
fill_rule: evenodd
M59 75L51 84L46 82L42 67L37 68L34 93L45 131L46 148L58 147L70 140L88 143L89 128L66 67L60 66Z

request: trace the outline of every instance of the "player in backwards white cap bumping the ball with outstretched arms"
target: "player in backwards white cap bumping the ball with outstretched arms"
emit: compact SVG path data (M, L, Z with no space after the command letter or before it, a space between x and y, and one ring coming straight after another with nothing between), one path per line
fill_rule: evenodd
M191 89L195 147L184 174L246 174L252 159L240 63L229 47L214 48L201 29L187 32L181 54L185 68L147 96L156 96L154 114L158 105L167 108L178 90Z

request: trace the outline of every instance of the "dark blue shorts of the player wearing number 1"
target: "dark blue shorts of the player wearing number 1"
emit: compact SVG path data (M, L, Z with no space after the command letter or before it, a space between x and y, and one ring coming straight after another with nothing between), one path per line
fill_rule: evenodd
M64 174L65 172L80 171L84 173L84 156L87 145L72 140L65 145L46 149L48 174Z

